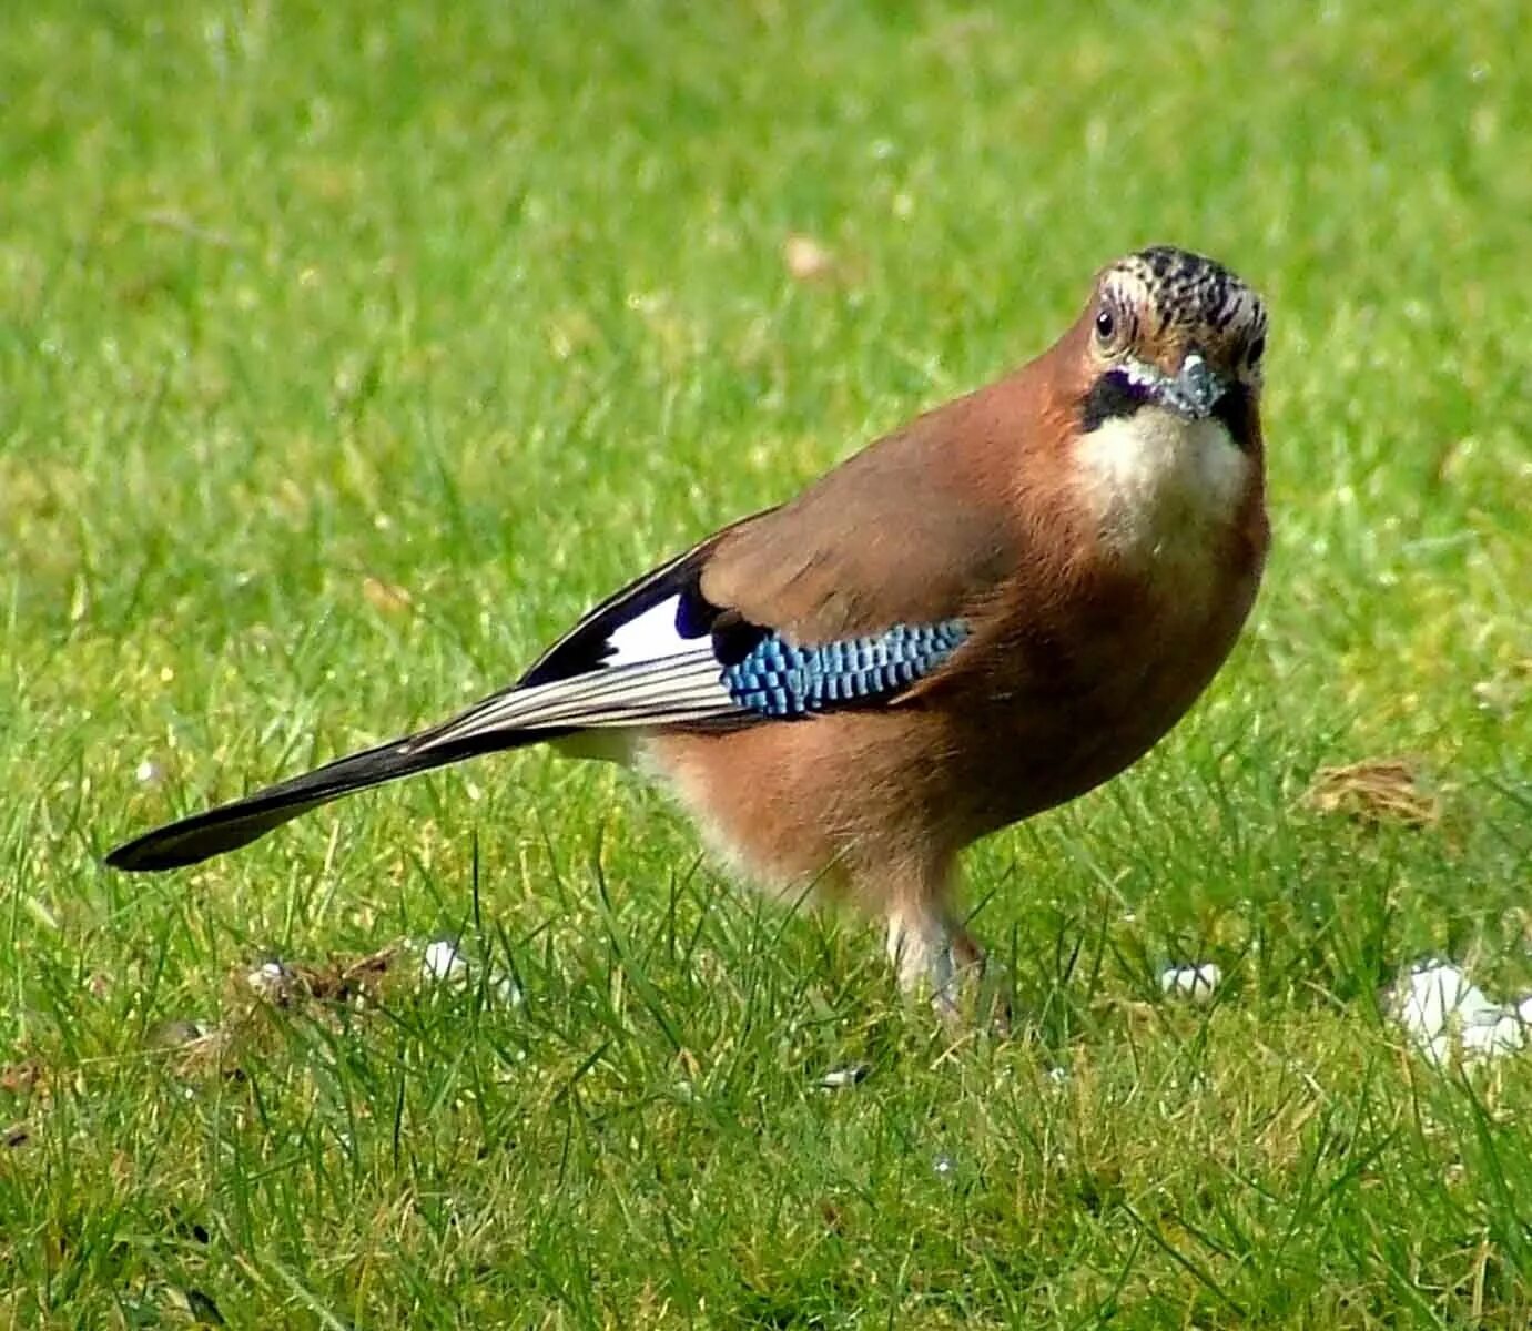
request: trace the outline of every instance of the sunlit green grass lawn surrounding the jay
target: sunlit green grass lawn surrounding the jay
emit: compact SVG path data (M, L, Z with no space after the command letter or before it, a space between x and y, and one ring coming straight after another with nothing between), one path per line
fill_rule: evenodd
M6 6L0 1325L1526 1326L1532 1052L1432 1071L1377 997L1532 988L1526 15L1244 8ZM1149 240L1268 297L1275 553L1149 760L970 855L1011 1042L538 754L100 867L506 682ZM1380 755L1439 819L1305 804ZM463 989L242 982L443 936Z

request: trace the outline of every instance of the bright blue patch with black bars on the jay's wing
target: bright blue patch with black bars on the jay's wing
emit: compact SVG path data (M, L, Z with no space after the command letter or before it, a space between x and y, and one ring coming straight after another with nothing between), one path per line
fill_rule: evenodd
M961 619L896 623L870 637L792 646L772 634L722 675L729 697L760 717L803 717L908 688L968 637Z

